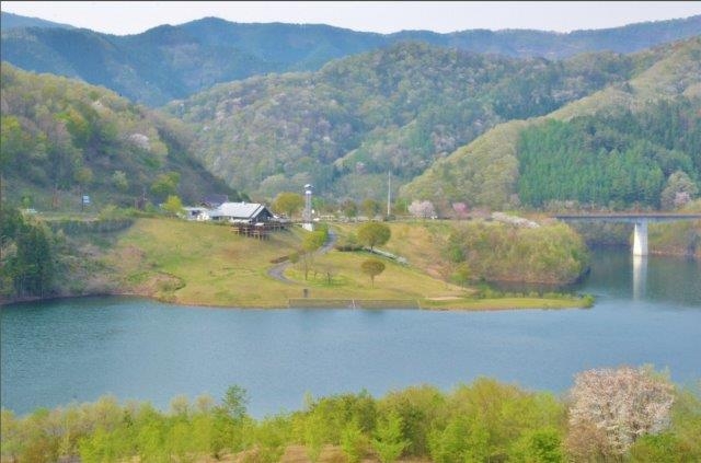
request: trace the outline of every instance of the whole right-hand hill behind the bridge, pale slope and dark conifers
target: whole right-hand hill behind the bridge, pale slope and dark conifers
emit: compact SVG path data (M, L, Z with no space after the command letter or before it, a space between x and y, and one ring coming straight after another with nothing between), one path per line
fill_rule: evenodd
M675 207L701 180L701 38L544 117L495 127L402 189L443 205Z

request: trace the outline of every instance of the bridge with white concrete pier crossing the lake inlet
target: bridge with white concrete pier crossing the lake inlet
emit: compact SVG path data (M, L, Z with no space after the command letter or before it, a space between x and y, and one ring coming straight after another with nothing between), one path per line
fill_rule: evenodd
M676 222L678 220L701 220L701 213L581 213L553 216L563 222L617 222L634 223L633 255L647 255L647 223L650 222Z

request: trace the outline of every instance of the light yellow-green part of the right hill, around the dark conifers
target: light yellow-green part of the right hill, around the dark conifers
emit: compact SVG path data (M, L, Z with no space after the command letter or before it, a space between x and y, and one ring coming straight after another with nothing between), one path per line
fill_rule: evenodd
M519 207L519 198L515 196L518 193L519 175L522 175L519 171L519 142L526 129L541 127L551 120L568 123L583 117L610 117L607 113L611 112L641 114L656 102L673 99L681 99L692 109L696 108L696 112L701 111L701 37L675 43L667 48L670 50L669 55L623 85L607 86L548 115L528 120L509 120L494 127L436 162L424 174L404 185L401 193L407 197L439 202L444 210L448 208L447 202L466 198L475 206ZM690 172L685 174L698 182L701 176L701 153L698 152L701 146L701 124L697 120L696 125L689 127L697 138L693 142L697 152L689 153L691 165L686 169ZM485 175L490 170L496 173ZM576 171L571 174L577 175ZM666 173L669 174L670 172ZM600 182L600 177L593 181ZM662 185L658 186L657 194L659 189ZM564 201L570 198L559 199Z

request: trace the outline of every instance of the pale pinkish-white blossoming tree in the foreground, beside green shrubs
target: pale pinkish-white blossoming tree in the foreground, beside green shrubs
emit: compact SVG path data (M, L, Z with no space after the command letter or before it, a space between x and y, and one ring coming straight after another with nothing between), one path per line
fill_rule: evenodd
M670 382L650 368L582 372L571 390L571 436L579 435L571 443L586 441L587 433L588 440L604 440L599 452L622 455L637 438L669 426L673 393Z

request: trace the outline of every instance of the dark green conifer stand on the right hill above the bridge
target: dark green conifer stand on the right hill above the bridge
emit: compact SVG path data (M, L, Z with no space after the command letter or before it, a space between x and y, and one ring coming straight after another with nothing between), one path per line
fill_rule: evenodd
M637 114L608 112L524 130L518 146L521 202L658 208L662 194L663 207L673 208L677 194L692 199L698 188L689 174L701 177L697 107L679 97Z

